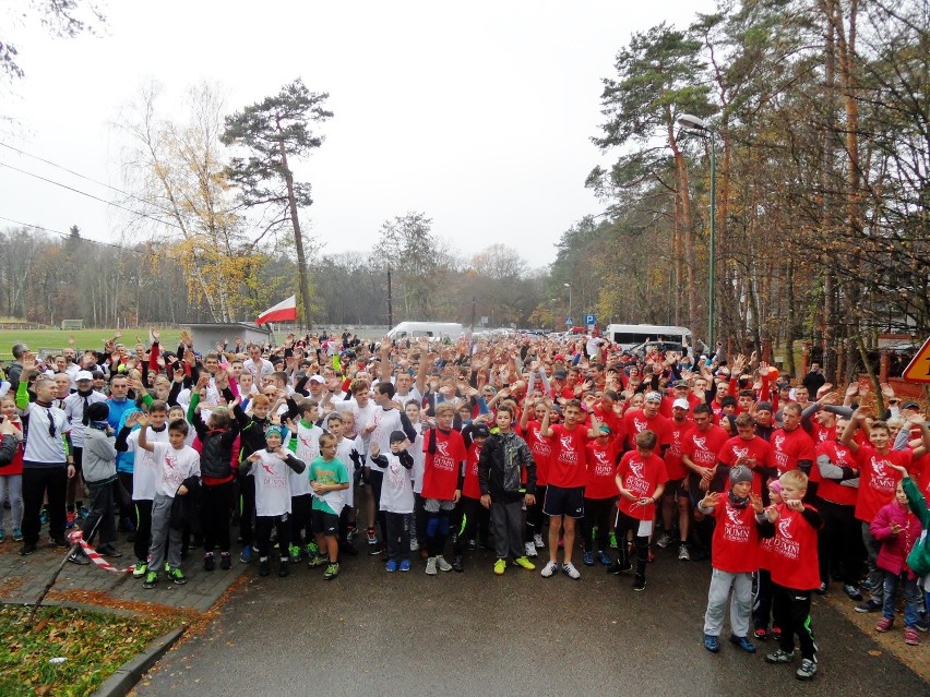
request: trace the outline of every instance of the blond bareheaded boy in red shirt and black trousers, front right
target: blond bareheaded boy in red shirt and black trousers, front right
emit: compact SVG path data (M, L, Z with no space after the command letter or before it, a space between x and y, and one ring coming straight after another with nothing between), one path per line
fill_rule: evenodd
M795 635L801 647L798 680L816 674L816 645L811 627L811 593L820 587L816 536L822 522L820 513L803 503L808 477L794 469L778 479L784 503L771 506L768 520L775 524L775 539L770 555L772 574L773 622L782 628L779 648L765 657L767 663L795 660Z

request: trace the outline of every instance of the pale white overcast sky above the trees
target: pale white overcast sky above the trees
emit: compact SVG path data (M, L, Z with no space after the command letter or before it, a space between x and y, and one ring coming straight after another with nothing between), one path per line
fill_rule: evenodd
M166 108L189 85L216 81L237 110L299 76L330 93L334 112L323 146L296 167L313 185L305 217L326 252L368 250L385 219L417 211L465 257L501 242L536 268L555 260L565 229L601 211L584 180L607 161L589 139L617 51L632 32L684 27L713 9L710 0L111 1L102 36L73 40L11 27L0 11L26 71L12 95L0 87L0 116L21 124L4 125L0 142L121 188L110 123L144 80L169 87ZM115 199L5 147L0 163ZM0 192L3 218L120 239L123 214L104 203L7 167Z

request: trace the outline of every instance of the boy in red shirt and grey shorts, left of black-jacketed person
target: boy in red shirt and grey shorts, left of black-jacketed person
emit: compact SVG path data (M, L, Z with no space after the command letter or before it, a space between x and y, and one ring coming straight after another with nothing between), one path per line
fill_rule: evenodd
M458 431L452 430L455 406L443 401L436 406L436 428L424 434L424 509L427 514L426 573L436 576L436 569L451 572L452 564L442 555L449 537L449 516L462 497L462 462L465 461L465 442Z

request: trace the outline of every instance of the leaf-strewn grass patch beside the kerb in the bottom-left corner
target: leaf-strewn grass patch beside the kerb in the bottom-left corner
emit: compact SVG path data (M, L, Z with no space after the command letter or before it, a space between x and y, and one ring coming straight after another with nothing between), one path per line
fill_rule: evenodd
M83 696L151 641L177 627L177 617L110 615L43 608L0 606L0 695ZM64 661L50 662L52 659Z

